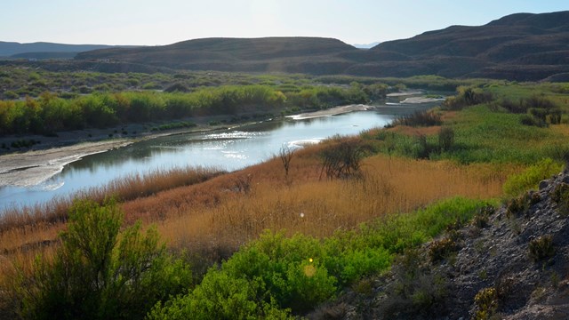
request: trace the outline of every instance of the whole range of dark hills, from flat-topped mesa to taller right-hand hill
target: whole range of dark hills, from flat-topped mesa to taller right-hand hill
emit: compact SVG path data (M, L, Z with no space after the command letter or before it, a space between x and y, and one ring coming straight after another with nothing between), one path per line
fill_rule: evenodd
M517 13L484 26L452 26L370 50L318 37L206 38L82 52L76 59L191 70L556 79L569 73L569 12Z

